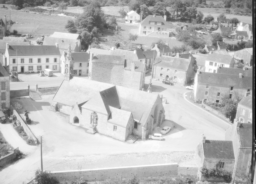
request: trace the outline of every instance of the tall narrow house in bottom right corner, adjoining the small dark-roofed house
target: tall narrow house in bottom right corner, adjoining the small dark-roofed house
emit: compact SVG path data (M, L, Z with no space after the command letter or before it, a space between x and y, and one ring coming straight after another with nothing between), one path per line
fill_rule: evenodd
M252 131L255 130L252 129L251 123L242 123L237 120L234 120L233 126L229 126L225 131L225 140L233 142L235 165L232 179L234 183L243 183L243 176L252 173Z

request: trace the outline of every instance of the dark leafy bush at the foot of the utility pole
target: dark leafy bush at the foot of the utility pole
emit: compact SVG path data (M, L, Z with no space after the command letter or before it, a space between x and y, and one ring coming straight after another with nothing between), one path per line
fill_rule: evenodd
M36 170L35 179L36 184L58 184L59 181L48 171Z

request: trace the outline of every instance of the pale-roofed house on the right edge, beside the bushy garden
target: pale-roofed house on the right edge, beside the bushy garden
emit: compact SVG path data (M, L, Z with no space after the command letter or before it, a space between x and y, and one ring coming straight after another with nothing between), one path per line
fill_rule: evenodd
M252 95L245 92L244 97L238 103L236 120L241 123L252 123Z

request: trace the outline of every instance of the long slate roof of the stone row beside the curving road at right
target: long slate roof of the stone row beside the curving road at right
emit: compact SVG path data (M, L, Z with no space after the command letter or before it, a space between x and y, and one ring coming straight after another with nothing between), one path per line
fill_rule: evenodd
M224 73L199 72L198 83L215 84L220 86L235 86L243 88L252 88L252 77L231 75Z

